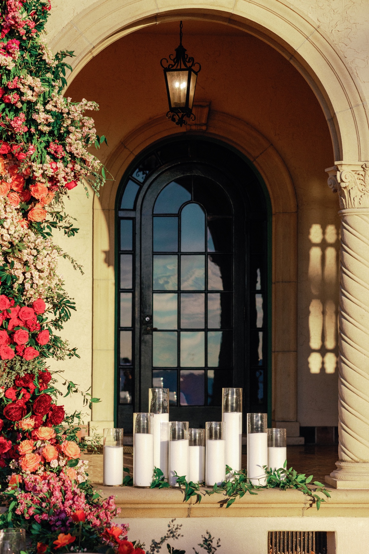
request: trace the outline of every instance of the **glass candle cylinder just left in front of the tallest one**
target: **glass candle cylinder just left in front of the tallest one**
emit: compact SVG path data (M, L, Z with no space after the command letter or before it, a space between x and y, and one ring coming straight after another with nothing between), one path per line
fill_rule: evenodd
M206 422L205 483L220 485L226 479L226 424Z

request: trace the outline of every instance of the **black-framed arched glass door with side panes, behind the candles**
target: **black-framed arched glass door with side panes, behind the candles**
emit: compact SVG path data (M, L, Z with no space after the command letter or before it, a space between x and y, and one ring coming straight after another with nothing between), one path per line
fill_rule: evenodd
M171 419L221 417L221 389L270 412L269 198L222 143L147 148L117 194L117 421L170 391ZM269 409L268 409L269 408Z

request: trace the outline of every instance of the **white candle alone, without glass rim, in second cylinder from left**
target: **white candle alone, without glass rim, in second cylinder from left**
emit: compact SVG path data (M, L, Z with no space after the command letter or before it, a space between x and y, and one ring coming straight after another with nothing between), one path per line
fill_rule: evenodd
M151 433L133 434L133 485L150 486L154 473L154 438Z

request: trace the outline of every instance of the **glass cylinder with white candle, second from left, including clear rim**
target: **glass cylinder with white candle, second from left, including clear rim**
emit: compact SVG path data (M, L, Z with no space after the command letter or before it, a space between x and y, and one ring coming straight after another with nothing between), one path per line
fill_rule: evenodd
M154 473L154 414L133 414L133 485L147 487Z

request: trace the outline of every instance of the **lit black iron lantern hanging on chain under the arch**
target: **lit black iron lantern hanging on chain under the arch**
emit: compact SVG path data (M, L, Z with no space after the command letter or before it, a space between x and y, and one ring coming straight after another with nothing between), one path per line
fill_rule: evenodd
M192 106L196 80L201 70L201 65L197 61L195 63L194 58L190 58L186 54L186 49L182 45L182 27L182 22L180 22L179 47L175 49L175 55L169 55L169 60L173 63L169 63L167 58L160 61L160 65L164 69L165 85L167 86L169 102L167 117L180 127L187 123L185 117L195 120Z

